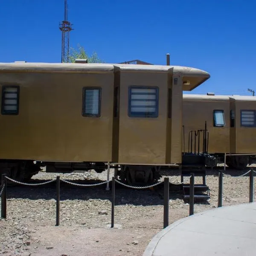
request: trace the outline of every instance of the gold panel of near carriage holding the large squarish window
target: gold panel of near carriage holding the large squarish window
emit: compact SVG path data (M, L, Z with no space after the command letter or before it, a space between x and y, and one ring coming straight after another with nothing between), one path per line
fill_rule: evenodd
M121 70L119 163L166 163L167 91L168 73Z

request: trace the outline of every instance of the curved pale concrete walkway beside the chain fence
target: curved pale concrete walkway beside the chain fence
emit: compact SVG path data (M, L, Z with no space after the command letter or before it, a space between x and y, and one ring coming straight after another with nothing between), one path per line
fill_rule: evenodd
M256 202L180 219L156 234L143 256L255 256Z

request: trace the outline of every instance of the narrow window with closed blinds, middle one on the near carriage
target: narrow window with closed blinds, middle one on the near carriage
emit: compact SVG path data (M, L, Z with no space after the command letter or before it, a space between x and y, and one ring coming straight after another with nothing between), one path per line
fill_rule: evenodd
M101 104L101 88L83 88L83 116L99 117Z

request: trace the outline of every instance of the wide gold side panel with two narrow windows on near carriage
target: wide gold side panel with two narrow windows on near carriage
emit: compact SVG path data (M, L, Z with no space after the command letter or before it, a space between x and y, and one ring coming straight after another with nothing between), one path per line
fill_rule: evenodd
M0 158L111 161L113 83L113 72L2 72ZM11 90L4 89L6 86L19 87L17 115L3 113L4 97L9 97L4 90ZM100 90L89 90L93 88ZM85 89L89 105L83 115ZM93 102L100 102L98 116L98 111L90 115L92 92L97 98ZM92 108L98 108L97 104Z

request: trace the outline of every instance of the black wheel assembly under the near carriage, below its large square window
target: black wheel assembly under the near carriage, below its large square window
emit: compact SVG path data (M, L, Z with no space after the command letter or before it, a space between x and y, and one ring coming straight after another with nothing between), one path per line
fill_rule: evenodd
M154 167L122 166L119 177L121 182L130 186L147 186L157 182L160 175Z

